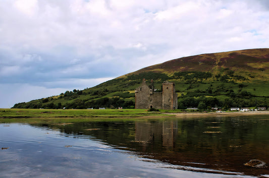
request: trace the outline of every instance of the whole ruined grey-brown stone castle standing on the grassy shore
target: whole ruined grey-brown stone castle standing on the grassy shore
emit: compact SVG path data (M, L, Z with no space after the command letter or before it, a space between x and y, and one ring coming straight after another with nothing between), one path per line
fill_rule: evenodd
M163 92L154 92L153 80L146 84L145 78L140 87L135 89L135 109L165 109L178 108L178 94L175 92L175 83L164 81Z

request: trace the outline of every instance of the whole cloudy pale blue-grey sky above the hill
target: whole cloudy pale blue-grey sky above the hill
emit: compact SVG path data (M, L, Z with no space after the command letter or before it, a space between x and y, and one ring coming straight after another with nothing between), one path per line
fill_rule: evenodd
M267 0L1 0L0 108L268 38Z

